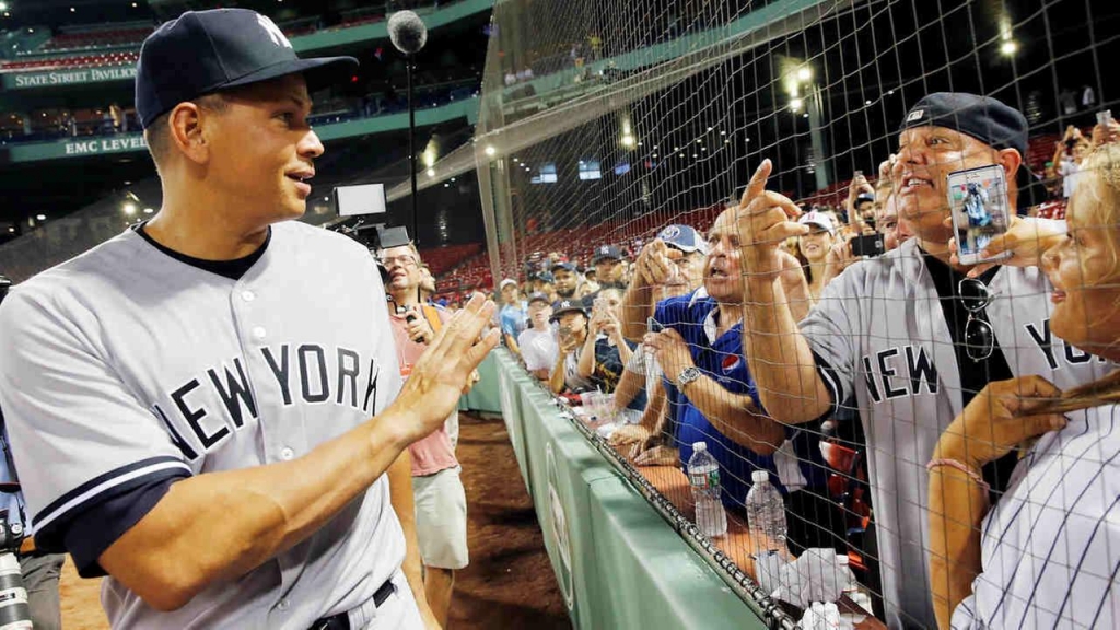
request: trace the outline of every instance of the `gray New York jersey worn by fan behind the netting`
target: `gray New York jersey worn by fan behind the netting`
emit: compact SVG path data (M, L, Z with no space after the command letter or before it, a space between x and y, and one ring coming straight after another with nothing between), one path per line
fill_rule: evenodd
M990 290L988 318L1015 376L1042 374L1066 389L1111 369L1051 334L1049 285L1040 270L1004 267ZM801 330L830 368L821 374L834 399L855 393L859 405L887 622L935 627L925 464L962 399L949 325L917 242L847 269Z

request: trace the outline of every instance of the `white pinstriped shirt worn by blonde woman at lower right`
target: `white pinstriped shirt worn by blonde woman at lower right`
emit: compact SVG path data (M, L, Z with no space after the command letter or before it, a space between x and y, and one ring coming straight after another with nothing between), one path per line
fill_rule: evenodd
M982 573L953 628L1120 623L1120 407L1070 415L987 516Z

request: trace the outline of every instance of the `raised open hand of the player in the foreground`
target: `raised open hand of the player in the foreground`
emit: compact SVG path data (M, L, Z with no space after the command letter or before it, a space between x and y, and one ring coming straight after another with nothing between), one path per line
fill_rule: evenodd
M394 410L412 420L405 427L410 442L442 426L459 404L472 373L497 345L496 328L479 337L494 309L493 302L475 294L439 331L412 367L412 374L393 402Z

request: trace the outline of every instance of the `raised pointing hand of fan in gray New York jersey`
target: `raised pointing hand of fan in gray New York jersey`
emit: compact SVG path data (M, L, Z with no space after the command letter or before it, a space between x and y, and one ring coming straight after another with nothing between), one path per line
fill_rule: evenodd
M778 250L790 237L809 233L796 222L801 211L784 195L766 189L773 165L765 159L743 193L736 221L739 229L739 268L748 278L773 280L782 272Z

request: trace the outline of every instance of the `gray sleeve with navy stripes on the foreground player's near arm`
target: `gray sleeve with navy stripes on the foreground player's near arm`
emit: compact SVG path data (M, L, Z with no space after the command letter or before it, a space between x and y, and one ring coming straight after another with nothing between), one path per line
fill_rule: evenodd
M32 288L13 291L0 308L0 405L36 543L63 552L77 516L193 470L88 332L49 302L48 291Z

